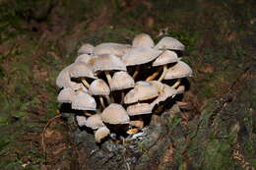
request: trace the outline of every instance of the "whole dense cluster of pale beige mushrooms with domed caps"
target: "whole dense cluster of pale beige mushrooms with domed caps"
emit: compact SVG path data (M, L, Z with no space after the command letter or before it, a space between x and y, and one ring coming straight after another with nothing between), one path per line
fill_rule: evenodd
M155 45L146 33L136 35L131 45L84 44L75 62L56 79L61 88L58 102L81 111L77 123L92 129L96 142L116 129L137 133L145 126L144 116L184 92L181 79L192 70L178 56L183 50L173 37L165 36Z

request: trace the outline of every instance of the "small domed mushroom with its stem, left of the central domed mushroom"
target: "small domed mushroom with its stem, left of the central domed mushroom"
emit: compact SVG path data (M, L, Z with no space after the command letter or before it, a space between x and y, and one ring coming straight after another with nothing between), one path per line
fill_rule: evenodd
M105 96L108 104L111 102L109 98L110 89L108 85L101 79L95 80L89 87L89 93L93 95L99 95L99 101L103 108L105 108L102 96Z

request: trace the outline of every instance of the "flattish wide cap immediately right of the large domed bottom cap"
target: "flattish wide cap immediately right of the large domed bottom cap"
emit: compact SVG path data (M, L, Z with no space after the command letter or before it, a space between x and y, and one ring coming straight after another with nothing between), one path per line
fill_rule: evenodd
M152 106L149 103L137 103L127 107L129 116L152 113Z

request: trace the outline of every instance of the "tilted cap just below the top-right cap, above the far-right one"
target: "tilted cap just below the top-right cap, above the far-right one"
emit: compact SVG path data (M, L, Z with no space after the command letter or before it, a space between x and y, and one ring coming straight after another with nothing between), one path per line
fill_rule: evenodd
M163 51L160 56L154 61L152 66L160 66L168 63L175 63L178 61L178 56L175 52L170 50Z

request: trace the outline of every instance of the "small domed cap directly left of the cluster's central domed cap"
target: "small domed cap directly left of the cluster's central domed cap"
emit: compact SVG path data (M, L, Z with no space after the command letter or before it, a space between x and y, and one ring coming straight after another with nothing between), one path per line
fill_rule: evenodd
M93 95L109 95L109 86L101 79L95 80L89 87L89 93Z

